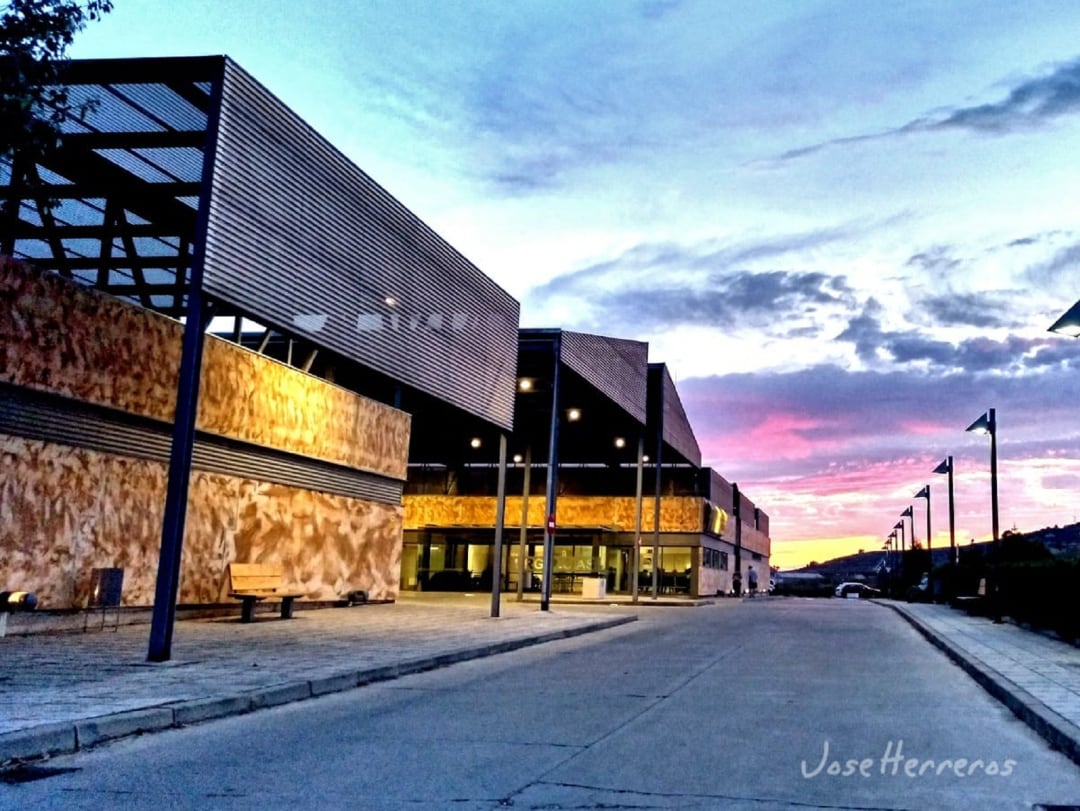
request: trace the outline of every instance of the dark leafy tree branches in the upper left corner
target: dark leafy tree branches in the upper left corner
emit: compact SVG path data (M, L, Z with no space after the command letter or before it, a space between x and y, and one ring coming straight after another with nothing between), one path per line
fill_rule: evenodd
M112 0L6 0L0 3L0 159L45 154L60 127L92 100L73 103L56 64L75 36L112 11Z

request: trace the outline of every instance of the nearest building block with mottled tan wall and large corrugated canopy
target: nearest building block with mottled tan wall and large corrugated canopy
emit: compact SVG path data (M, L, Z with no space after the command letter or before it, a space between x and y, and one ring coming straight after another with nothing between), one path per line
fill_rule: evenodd
M408 460L512 427L517 302L227 57L63 78L85 120L0 162L0 587L393 599Z

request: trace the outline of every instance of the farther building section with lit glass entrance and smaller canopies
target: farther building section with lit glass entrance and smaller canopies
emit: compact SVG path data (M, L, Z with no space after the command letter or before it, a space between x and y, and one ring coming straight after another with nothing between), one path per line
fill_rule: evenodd
M725 594L751 566L768 582L768 516L701 467L646 343L521 330L498 562L491 444L472 437L453 465L410 460L402 589L487 590L497 570L519 593L540 591L545 573L550 593L579 595L595 595L596 580L605 594Z

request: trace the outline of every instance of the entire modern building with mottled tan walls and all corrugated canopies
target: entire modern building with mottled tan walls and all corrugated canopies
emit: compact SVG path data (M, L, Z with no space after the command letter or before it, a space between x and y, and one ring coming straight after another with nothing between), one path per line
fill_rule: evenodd
M768 570L768 517L701 467L647 344L518 330L228 57L64 80L90 114L0 161L0 589L79 608L122 570L167 658L176 605L229 603L233 562L282 564L307 602Z

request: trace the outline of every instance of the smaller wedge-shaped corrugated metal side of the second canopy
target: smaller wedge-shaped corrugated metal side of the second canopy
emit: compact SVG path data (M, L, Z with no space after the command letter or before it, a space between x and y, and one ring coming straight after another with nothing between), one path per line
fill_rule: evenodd
M644 424L649 344L565 329L562 336L563 363Z

